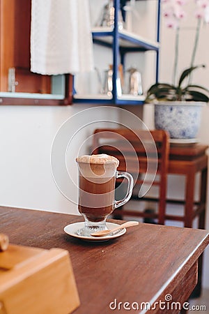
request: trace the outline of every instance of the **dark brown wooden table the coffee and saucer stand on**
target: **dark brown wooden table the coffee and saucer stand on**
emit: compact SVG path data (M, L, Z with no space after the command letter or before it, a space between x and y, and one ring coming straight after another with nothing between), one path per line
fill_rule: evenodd
M0 232L8 234L10 243L69 251L81 301L76 314L127 313L124 306L137 304L139 311L128 313L178 313L178 309L162 310L159 304L150 311L140 307L142 302L150 306L164 302L168 294L183 305L196 285L198 258L209 243L208 231L141 223L122 237L92 243L63 232L65 225L81 220L68 214L0 207ZM109 304L121 310L113 311Z

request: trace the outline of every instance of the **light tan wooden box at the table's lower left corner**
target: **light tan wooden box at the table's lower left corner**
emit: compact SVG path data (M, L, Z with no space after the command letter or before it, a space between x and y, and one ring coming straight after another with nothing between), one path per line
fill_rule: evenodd
M0 314L68 314L78 306L68 251L9 245L0 252Z

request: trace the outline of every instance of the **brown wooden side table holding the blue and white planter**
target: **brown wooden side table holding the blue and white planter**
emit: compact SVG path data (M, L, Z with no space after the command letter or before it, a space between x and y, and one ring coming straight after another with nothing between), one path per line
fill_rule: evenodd
M183 216L167 215L168 220L183 221L184 227L192 227L194 218L199 218L199 229L205 228L206 188L208 172L208 146L201 144L175 145L170 147L169 174L185 176L185 199L167 200L176 204L184 204ZM200 173L199 200L194 200L196 174Z

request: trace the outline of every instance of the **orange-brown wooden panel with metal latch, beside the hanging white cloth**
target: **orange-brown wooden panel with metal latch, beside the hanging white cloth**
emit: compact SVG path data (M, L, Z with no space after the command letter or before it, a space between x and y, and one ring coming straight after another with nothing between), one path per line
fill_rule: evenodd
M15 91L50 94L51 77L30 71L31 0L0 0L0 24L0 91L13 68Z

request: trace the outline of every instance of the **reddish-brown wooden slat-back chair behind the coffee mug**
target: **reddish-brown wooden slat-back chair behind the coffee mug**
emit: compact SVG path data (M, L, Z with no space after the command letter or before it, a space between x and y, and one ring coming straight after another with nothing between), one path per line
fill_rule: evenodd
M147 197L151 186L158 186L158 209L155 211L129 210L120 207L114 218L140 216L156 219L164 224L167 197L167 169L169 164L169 135L164 130L130 130L127 128L98 128L93 134L92 154L108 154L120 161L118 171L130 172L135 188L132 198L144 201L156 200ZM119 182L120 183L120 182ZM127 203L128 204L128 203ZM127 205L125 206L127 207Z

